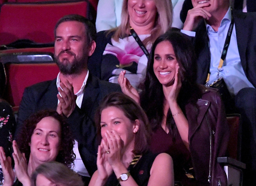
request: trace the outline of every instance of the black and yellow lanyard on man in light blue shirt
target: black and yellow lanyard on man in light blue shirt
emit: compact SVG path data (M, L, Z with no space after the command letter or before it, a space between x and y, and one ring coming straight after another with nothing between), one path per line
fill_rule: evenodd
M230 38L231 38L232 31L233 31L233 27L234 27L234 17L233 17L233 14L231 12L231 23L229 25L228 34L226 36L224 47L223 47L223 50L222 50L222 53L221 53L220 63L219 63L219 66L218 66L218 74L217 74L216 78L219 78L219 74L220 74L221 68L223 66L223 62L224 62L224 60L226 59L226 56L227 56L228 47L229 47L229 44L230 44ZM208 76L207 76L207 79L206 79L206 84L210 80L210 74L211 73L210 73L210 70L209 70L209 73L208 73Z

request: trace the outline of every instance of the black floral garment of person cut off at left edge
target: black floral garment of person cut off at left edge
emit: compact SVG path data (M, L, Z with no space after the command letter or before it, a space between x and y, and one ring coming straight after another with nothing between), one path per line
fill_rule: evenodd
M0 99L0 146L4 148L6 157L11 156L12 133L15 126L15 117L12 107ZM3 185L3 172L0 166L0 185Z

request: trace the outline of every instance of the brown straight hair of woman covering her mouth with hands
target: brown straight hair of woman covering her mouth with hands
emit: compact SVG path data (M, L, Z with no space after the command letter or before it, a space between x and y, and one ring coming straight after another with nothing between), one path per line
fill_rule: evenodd
M124 112L124 115L134 123L140 121L139 130L135 134L135 144L133 153L143 154L148 151L149 142L149 124L146 113L132 98L120 92L114 92L106 96L95 114L95 123L97 125L97 134L100 136L100 118L101 112L110 106L114 106Z

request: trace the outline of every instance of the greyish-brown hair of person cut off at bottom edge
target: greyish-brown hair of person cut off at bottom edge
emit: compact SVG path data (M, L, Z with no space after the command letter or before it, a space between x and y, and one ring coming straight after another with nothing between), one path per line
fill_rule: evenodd
M31 186L36 186L38 174L43 175L54 184L64 186L84 186L82 178L75 171L62 163L56 161L45 162L33 172L31 176Z

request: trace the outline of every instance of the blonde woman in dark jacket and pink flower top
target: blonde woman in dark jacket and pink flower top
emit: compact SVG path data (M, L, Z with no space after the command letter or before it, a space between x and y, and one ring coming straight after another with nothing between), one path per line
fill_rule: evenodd
M97 33L96 49L88 61L89 72L117 83L120 72L126 70L127 78L138 89L145 78L147 52L171 26L171 0L124 0L120 26ZM131 27L144 46L135 41Z

